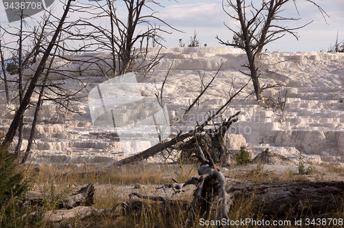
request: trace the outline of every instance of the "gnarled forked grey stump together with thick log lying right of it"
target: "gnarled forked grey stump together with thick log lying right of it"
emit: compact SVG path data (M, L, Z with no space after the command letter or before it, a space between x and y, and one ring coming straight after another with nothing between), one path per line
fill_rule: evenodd
M202 151L202 150L201 150ZM197 215L207 220L230 220L230 212L239 199L246 198L252 218L325 218L341 212L344 199L343 181L271 181L259 182L225 178L221 172L208 165L198 169L199 176L184 183L165 184L175 194L183 192L186 185L195 185L191 205L186 212L183 227L193 223ZM149 198L151 196L141 196ZM325 217L324 217L325 216Z

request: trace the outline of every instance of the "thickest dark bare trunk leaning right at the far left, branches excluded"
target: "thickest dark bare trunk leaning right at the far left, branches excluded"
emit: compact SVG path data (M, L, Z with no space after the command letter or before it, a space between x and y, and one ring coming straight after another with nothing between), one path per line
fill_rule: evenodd
M39 77L41 76L43 69L45 67L45 62L47 61L47 58L50 55L50 52L52 51L52 47L55 44L56 38L58 34L60 34L62 30L63 23L65 21L65 18L68 14L70 4L74 0L68 0L67 5L65 7L65 12L63 13L63 16L61 18L60 23L58 24L58 27L56 28L56 32L54 33L54 36L52 37L52 41L50 41L49 45L47 46L47 49L45 50L45 53L43 55L43 58L41 62L39 63L39 66L36 69L36 72L34 73L34 76L32 77L32 80L30 82L30 85L28 87L28 90L25 93L25 96L23 98L23 102L19 106L19 109L17 110L16 114L14 115L14 118L12 120L12 123L10 125L10 128L8 129L8 133L6 134L5 139L3 140L3 145L9 146L9 144L12 143L14 135L17 132L17 128L19 126L20 119L23 117L25 113L25 109L28 106L32 93L34 92L34 89L36 87L36 82L39 80Z

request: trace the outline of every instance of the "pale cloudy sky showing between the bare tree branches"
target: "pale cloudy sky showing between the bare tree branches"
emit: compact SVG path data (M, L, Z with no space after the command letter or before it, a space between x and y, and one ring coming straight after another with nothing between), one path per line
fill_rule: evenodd
M3 0L4 1L4 0ZM62 3L56 1L55 16L62 15ZM83 0L86 2L85 0ZM321 50L327 51L330 45L334 44L336 34L340 41L344 40L344 1L343 0L314 0L321 5L323 10L327 12L330 18L326 18L327 23L323 19L321 12L312 3L305 0L297 0L299 15L294 8L292 1L286 4L285 10L282 12L284 16L292 16L301 18L299 21L284 21L283 25L288 27L299 27L305 23L313 21L310 25L299 30L297 33L300 36L299 41L291 35L286 35L279 41L275 41L266 46L268 51L280 52L306 52ZM179 0L177 1L160 1L164 7L159 7L152 3L148 4L153 10L158 13L155 16L160 17L166 23L169 23L178 30L184 33L171 31L172 34L164 34L166 47L178 47L179 38L182 38L186 45L196 30L200 43L207 44L208 47L224 47L220 45L215 39L219 36L224 41L231 41L233 34L224 26L226 23L230 27L236 27L235 21L231 20L224 10L222 10L221 0ZM253 0L254 4L259 5L261 0ZM125 10L122 10L122 4L118 0L118 12L120 16L126 16ZM0 10L3 14L0 15L1 25L8 24L5 10L1 4ZM69 14L71 17L69 21L78 19L80 14ZM35 19L39 19L39 14L34 15ZM106 22L102 22L103 24ZM15 23L11 23L15 26Z

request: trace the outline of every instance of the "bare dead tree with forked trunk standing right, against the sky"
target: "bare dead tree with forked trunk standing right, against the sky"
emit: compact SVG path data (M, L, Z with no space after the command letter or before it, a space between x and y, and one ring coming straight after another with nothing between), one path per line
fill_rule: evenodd
M323 14L324 19L325 15L328 16L323 8L314 3L314 1L305 1L309 1L310 3L316 5L316 7L319 8L321 14ZM264 98L261 93L261 86L259 84L260 74L258 73L258 68L255 64L255 60L259 58L259 56L261 55L261 51L263 50L263 47L265 45L272 41L276 41L279 38L282 38L285 34L292 34L292 36L298 39L299 36L297 36L296 32L294 31L305 27L312 21L300 27L294 28L289 28L277 23L277 21L299 20L280 16L281 11L283 11L282 7L288 2L294 3L297 10L295 0L264 0L262 1L259 8L253 5L252 2L246 3L246 0L226 0L226 2L226 4L222 4L224 12L226 12L230 19L233 19L240 23L239 32L235 31L235 29L225 24L226 27L234 33L234 37L237 38L237 42L225 42L218 36L216 36L216 38L219 43L223 45L239 47L246 52L248 65L243 65L243 67L246 67L249 72L241 71L241 73L244 73L246 76L249 76L252 79L257 101L260 101L262 104L264 104ZM231 8L234 12L228 12L225 7Z

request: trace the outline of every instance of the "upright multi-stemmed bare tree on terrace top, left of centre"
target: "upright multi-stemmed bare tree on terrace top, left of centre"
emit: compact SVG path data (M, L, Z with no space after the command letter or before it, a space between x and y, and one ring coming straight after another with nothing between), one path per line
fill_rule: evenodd
M116 4L118 5L119 3L125 3L125 10L127 12L125 19L121 19L117 14ZM158 64L162 57L159 57L159 54L145 62L147 60L149 43L152 42L155 47L161 47L161 41L164 41L161 34L169 34L170 32L162 30L160 26L152 24L149 20L158 21L175 30L168 23L155 16L155 12L147 3L161 6L157 1L107 0L106 3L95 1L94 5L87 5L87 10L92 14L92 18L87 20L81 19L77 23L80 27L92 28L92 32L81 36L92 38L92 45L96 45L98 50L111 52L111 69L114 76L140 69L144 69L144 73L147 73L149 69ZM144 9L152 10L152 13L144 14L142 12ZM80 7L80 11L85 12L85 4ZM92 21L93 19L107 19L109 20L109 27L98 25ZM147 25L147 30L138 31L138 25ZM133 68L137 58L142 58L143 60L138 62L136 68Z

